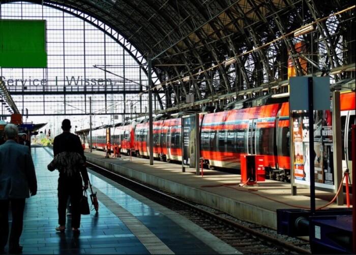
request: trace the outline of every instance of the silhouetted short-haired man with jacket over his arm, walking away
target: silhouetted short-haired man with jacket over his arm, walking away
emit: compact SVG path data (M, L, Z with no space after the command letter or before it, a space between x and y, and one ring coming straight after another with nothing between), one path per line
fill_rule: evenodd
M83 147L79 137L70 133L71 128L70 120L64 119L63 133L56 136L53 141L54 160L48 165L48 170L53 171L56 168L60 172L60 178L58 178L58 224L60 226L56 230L63 232L66 228L66 208L70 199L72 230L79 233L79 200L82 194L82 179L86 189L88 174L85 168Z

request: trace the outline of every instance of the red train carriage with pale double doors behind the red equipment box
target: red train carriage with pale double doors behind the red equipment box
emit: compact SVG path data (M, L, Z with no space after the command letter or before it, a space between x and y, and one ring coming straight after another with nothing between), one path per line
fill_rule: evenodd
M204 115L201 156L210 167L240 168L240 157L262 155L266 167L277 163L275 122L281 104Z

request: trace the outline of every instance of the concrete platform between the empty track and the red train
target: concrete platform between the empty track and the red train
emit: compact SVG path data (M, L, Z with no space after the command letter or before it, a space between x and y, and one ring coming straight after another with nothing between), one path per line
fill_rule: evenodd
M195 170L188 169L183 173L179 164L154 161L154 166L150 166L150 161L145 158L132 157L130 161L126 155L121 158L105 158L104 155L105 152L95 150L85 153L89 162L275 230L276 209L310 206L309 189L298 188L298 196L291 196L290 183L266 180L258 186L239 187L238 174L204 169L201 177L195 175ZM317 207L327 204L332 198L329 193L318 190L316 197ZM333 204L331 207L339 206Z

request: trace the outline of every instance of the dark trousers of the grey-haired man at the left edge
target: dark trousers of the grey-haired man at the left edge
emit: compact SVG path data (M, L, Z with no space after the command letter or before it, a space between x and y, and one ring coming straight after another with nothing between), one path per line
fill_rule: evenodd
M12 224L9 247L19 245L23 226L25 199L0 200L0 250L5 247L9 237L9 203L11 202Z

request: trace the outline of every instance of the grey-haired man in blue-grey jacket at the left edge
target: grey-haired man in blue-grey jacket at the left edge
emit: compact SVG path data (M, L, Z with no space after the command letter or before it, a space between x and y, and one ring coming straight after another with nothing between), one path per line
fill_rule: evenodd
M27 146L15 142L17 126L5 126L5 140L0 146L0 253L9 236L9 203L11 203L12 224L9 240L9 252L20 253L19 245L22 233L25 199L37 193L37 179L34 163Z

